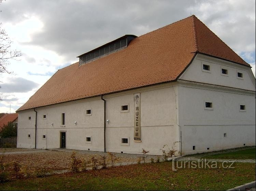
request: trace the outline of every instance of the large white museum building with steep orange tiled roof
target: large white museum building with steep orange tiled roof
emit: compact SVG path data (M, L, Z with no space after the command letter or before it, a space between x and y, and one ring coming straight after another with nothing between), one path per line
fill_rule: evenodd
M17 147L160 155L180 141L185 155L255 145L251 67L194 15L79 59L17 110Z

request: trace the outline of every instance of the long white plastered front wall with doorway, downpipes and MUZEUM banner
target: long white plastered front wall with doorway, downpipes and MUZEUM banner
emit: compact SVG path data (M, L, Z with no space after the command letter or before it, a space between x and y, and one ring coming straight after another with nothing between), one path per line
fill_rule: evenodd
M172 146L174 141L179 141L175 105L177 87L175 83L174 87L172 85L166 83L105 95L103 98L106 100L106 120L109 120L109 124L106 124L106 151L140 154L144 148L150 150L150 154L161 155L160 149L164 144ZM133 97L137 92L141 93L142 142L133 141ZM122 105L129 105L129 112L122 112ZM91 109L91 115L86 115L87 109ZM37 111L37 149L59 148L60 132L65 131L67 149L104 151L104 102L101 97L55 104L35 110ZM17 146L33 148L35 112L25 110L18 113L23 123L19 123ZM61 125L62 113L65 113L64 126ZM28 117L32 115L31 122ZM44 115L46 119L43 118ZM26 137L27 127L30 127L30 139ZM91 143L85 141L86 137L91 137ZM128 138L129 145L122 145L121 138Z

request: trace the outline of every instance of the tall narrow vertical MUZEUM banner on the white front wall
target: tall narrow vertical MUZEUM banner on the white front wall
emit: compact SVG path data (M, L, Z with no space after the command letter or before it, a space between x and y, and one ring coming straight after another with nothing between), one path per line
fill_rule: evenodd
M141 137L140 137L140 93L134 94L134 141L141 142Z

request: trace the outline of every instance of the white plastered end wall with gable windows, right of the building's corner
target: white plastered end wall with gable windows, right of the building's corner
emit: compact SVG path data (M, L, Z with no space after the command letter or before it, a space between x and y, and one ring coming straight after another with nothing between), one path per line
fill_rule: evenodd
M211 72L202 71L202 63ZM221 75L222 67L228 76ZM199 55L179 82L182 155L255 145L255 78L250 68ZM213 109L205 109L204 101L212 102ZM240 111L240 104L246 111Z

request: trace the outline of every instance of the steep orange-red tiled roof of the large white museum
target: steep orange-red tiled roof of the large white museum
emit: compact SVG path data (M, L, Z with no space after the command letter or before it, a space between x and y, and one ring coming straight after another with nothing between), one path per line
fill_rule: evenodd
M192 15L133 39L123 50L58 70L17 111L175 81L196 53L250 67Z

